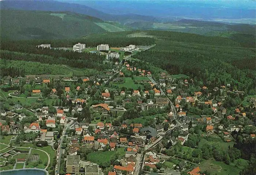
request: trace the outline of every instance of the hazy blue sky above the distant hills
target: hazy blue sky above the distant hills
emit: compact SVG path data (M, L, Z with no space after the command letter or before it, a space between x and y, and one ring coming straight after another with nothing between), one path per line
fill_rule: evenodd
M58 0L122 15L160 18L191 17L191 19L255 18L256 0Z

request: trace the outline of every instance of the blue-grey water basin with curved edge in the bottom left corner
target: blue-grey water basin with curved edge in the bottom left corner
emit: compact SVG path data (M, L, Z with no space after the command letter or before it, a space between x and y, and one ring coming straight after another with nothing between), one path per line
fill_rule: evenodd
M11 171L2 171L0 172L1 175L46 175L46 172L43 170L11 170Z

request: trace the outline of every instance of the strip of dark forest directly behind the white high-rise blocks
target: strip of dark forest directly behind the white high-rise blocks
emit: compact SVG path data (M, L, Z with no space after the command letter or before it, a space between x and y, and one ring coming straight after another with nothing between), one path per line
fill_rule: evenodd
M139 32L139 31L138 31ZM51 44L51 47L73 47L76 43L85 43L86 47L96 47L99 44L109 44L110 47L125 47L129 44L135 45L152 45L155 39L147 37L127 37L134 32L115 32L92 34L79 39L63 39L63 40L1 40L1 49L18 52L35 53L36 45ZM32 52L33 51L33 52Z

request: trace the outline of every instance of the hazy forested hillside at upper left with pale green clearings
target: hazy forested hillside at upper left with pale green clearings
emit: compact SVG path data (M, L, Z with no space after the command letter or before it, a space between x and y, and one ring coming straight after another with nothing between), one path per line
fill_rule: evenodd
M1 38L67 39L107 32L101 19L71 12L1 10Z

